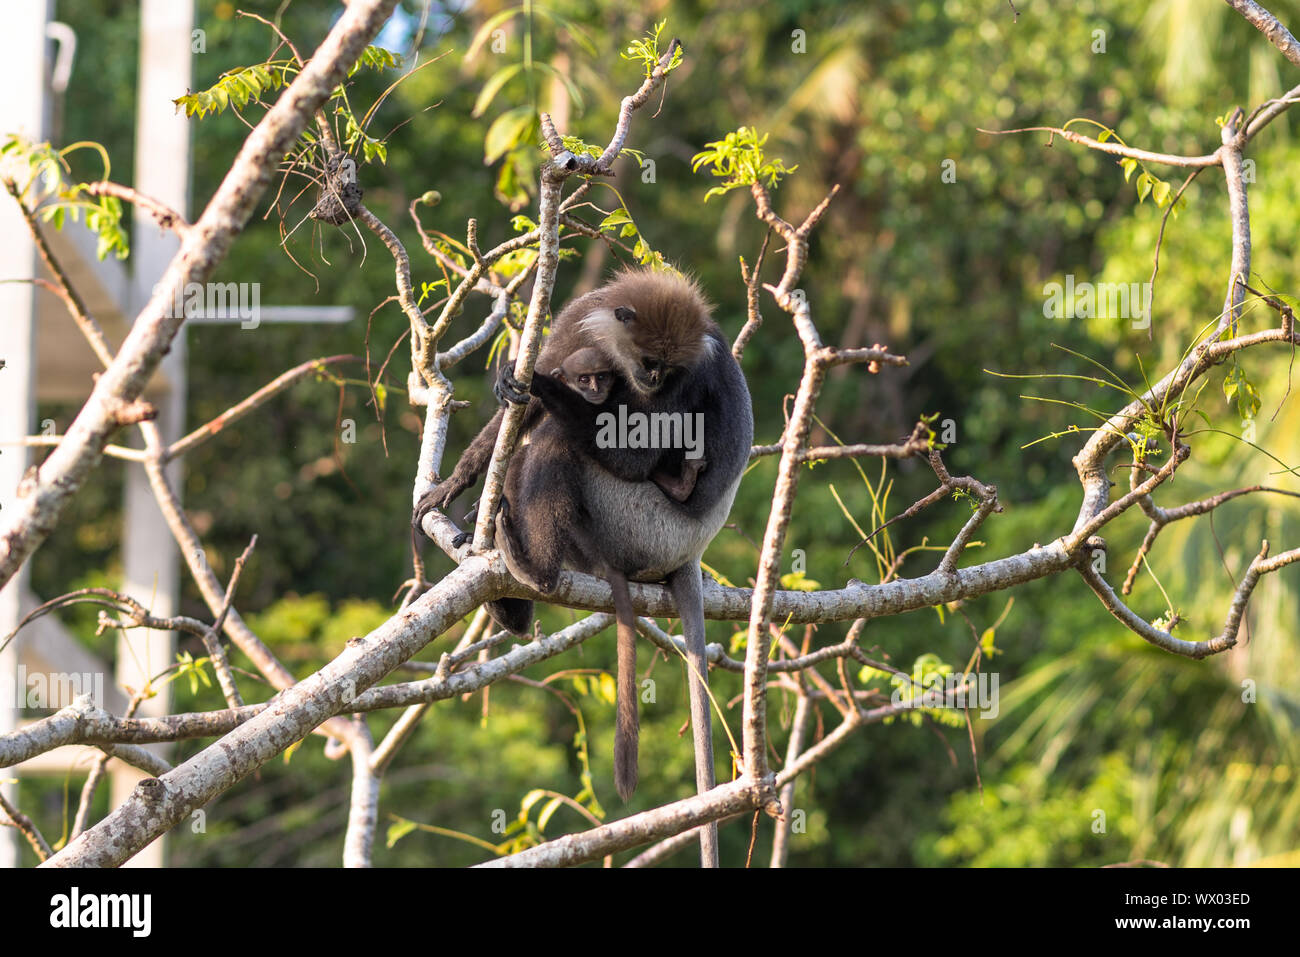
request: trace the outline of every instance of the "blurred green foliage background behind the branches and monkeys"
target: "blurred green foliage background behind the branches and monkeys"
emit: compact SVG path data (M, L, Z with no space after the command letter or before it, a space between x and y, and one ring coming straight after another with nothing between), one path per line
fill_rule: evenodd
M246 8L269 17L278 5ZM534 17L530 31L532 56L571 77L582 96L581 109L568 104L567 131L589 142L608 135L618 99L638 82L638 68L621 60L619 51L662 18L668 20L666 35L682 39L682 68L668 83L662 107L653 104L636 116L628 143L655 160L654 182L644 182L634 164L624 160L616 185L646 241L699 276L732 335L744 320L737 256L753 261L762 229L744 190L703 204L712 182L690 172L692 155L742 125L770 133L768 155L798 165L777 192L777 209L786 218L801 218L831 183L842 186L816 233L802 287L828 342L885 342L907 354L911 365L874 377L857 368L837 369L819 404L820 420L845 441L884 442L905 436L919 415L952 419L957 441L946 452L949 467L996 482L1008 506L982 529L984 545L968 560L1050 540L1069 529L1078 508L1070 456L1079 439L1023 446L1092 421L1020 394L1101 408L1115 402L1114 393L1086 381L1026 382L987 369L1092 373L1053 347L1060 343L1113 367L1130 384L1141 381L1143 368L1154 380L1218 312L1230 251L1222 177L1209 170L1187 190L1187 209L1170 220L1150 337L1121 320L1045 317L1044 285L1066 274L1092 282L1147 281L1162 211L1152 202L1136 202L1134 186L1112 157L1060 139L1048 144L1041 133L992 137L978 127L1058 126L1089 117L1132 144L1201 153L1218 144L1214 117L1234 105L1249 109L1294 83L1294 72L1277 51L1218 0L1019 0L1017 7L1018 20L996 0L727 0L636 8L555 0L554 10L581 29L590 48L541 17ZM417 17L411 0L404 8ZM237 18L233 4L203 0L198 9L207 52L195 57L196 88L270 53L274 44L265 29ZM482 116L472 116L489 77L521 56L525 21L515 17L504 27L504 52L484 48L472 60L464 57L476 30L503 9L500 3L464 10L436 7L421 57L446 56L403 82L370 130L385 135L410 120L389 138L387 163L363 168L361 183L370 209L412 250L417 287L441 278L441 272L419 252L407 203L436 189L443 199L425 212L428 225L462 237L473 216L482 242L510 235L511 213L495 194L502 182L523 189L540 153L528 159L523 151L485 165L485 137L500 113L529 105L554 109L556 98L566 96L549 74L520 72ZM1295 3L1274 3L1270 9L1292 26L1300 22ZM64 139L105 143L114 173L129 181L136 5L64 0L58 16L95 38L78 55ZM328 30L330 16L328 4L296 3L282 22L307 51ZM1104 52L1097 49L1098 36ZM796 52L801 39L806 46ZM395 75L358 74L350 88L352 103L368 104ZM251 118L257 114L248 111ZM1290 294L1297 290L1300 272L1295 129L1294 118L1279 120L1249 150L1257 164L1251 194L1254 269L1260 282ZM194 209L214 191L244 133L229 112L195 124ZM956 164L953 183L941 179L946 160ZM512 163L519 176L502 179L503 164ZM1180 182L1169 170L1154 172L1175 187ZM599 202L606 211L614 205L607 194ZM309 205L311 194L292 207L286 228L296 225ZM274 216L255 218L214 278L263 283L264 304L270 298L274 304L350 304L363 317L393 293L391 259L368 234L363 239L348 229L322 233L311 221L304 224L291 248L315 278L295 268L278 243ZM594 259L562 267L556 302L580 278L599 278L616 259L602 251L589 256ZM780 259L779 250L770 252L764 277L775 281ZM472 300L451 335L473 328L484 308ZM744 365L754 394L755 438L774 442L783 424L783 395L793 393L798 380L801 354L785 317L770 304L764 316ZM1261 328L1274 319L1261 311L1248 321ZM292 364L360 354L363 321L264 325L256 332L191 328L191 425ZM404 329L394 304L376 312L369 329L376 364ZM459 367L458 397L471 399L472 408L452 420L451 456L494 404L481 356ZM404 384L406 361L399 347L391 385ZM1257 350L1242 361L1264 398L1256 442L1295 464L1300 460L1295 402L1283 403L1270 419L1288 390L1290 356ZM1226 371L1214 373L1201 408L1214 428L1238 436L1243 424L1219 390ZM361 378L358 368L350 374ZM318 667L351 635L381 622L410 573L407 523L419 420L396 389L382 425L368 399L364 385L352 385L341 410L335 387L300 384L260 415L221 432L185 463L186 506L220 576L229 575L248 537L260 536L239 603L256 612L254 627L300 675ZM65 421L68 412L43 413ZM335 459L339 415L358 423L356 443L341 447L342 469ZM829 437L820 432L815 441ZM1192 464L1161 492L1162 505L1253 482L1300 488L1294 476L1271 475L1275 463L1230 437L1204 434L1193 437L1192 446ZM879 468L863 467L875 482ZM117 580L121 465L105 462L100 475L104 481L78 497L69 520L35 559L35 586L43 596ZM754 567L753 542L762 537L775 475L775 459L750 471L732 516L736 529L724 531L706 557L733 583L745 583ZM1122 471L1113 477L1127 481ZM890 515L932 488L932 477L916 463L890 467L889 478ZM837 493L861 525L872 527L863 478L850 463L836 462L810 468L803 480L788 545L803 551L807 577L824 588L840 586L850 576L878 580L866 549L845 564L859 536L835 498ZM966 515L966 506L948 502L892 532L900 547L927 536L944 542ZM1300 542L1297 518L1288 499L1247 497L1216 512L1213 521L1200 519L1164 532L1152 570L1186 618L1184 636L1222 628L1232 576L1240 575L1261 537L1274 542L1275 551ZM1140 515L1108 529L1112 581L1122 579L1144 531ZM450 563L429 551L436 577ZM923 573L932 562L927 553L916 554L902 573ZM1208 662L1147 648L1110 619L1074 576L1017 589L996 632L997 654L983 664L1002 680L1000 716L975 724L983 788L976 784L965 728L907 722L867 728L801 781L796 806L807 811L807 828L794 836L792 863L1294 862L1300 848L1297 588L1295 567L1268 579L1252 599L1249 641ZM962 612L978 633L1002 614L1006 599L989 596ZM1139 579L1132 603L1148 618L1165 611L1160 589L1147 575ZM207 615L192 588L185 592L185 611ZM549 612L543 625L568 616ZM69 615L69 622L82 633L91 631L88 615ZM822 627L815 640L836 641L846 627ZM733 631L711 623L710 640L727 644ZM422 657L436 659L452 641L439 638ZM924 653L961 666L974 637L962 614L931 610L871 623L864 644L901 667ZM608 668L612 662L608 635L529 676ZM685 714L680 674L660 662L655 676L660 694L658 703L642 707L642 784L632 810L690 788L689 739L679 735ZM1252 703L1243 702L1243 681L1254 689ZM595 685L560 679L555 687L585 715L597 796L610 802L607 810L621 813L611 787L611 705ZM720 701L732 702L740 684L720 674L715 688ZM252 698L264 694L252 681L244 683L244 692ZM200 687L190 694L178 688L178 706L217 707L220 700L214 689ZM738 735L738 705L727 715ZM780 694L774 696L772 718L774 727L788 724L788 702ZM377 737L391 720L373 719ZM833 711L824 709L818 733L833 723ZM521 684L494 688L486 705L482 696L443 702L385 779L382 811L497 841L493 813L515 817L529 789L578 791L576 733L573 714L556 696ZM777 731L776 739L783 748L784 732ZM196 748L182 745L178 757ZM204 833L178 830L172 861L335 863L346 797L346 762L326 761L318 740L308 741L287 763L268 765L214 802ZM47 833L57 835L61 781L44 787L36 811ZM584 826L572 811L560 810L546 833ZM766 861L770 835L763 824L755 861ZM725 827L724 861L744 861L748 843L744 823ZM416 832L391 849L377 849L376 863L464 865L482 856L452 837ZM689 863L689 854L677 862Z

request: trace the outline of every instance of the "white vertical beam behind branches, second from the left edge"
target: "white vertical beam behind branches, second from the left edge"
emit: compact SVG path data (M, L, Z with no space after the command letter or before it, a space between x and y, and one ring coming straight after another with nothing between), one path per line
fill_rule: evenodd
M142 0L139 94L135 113L135 187L188 218L190 205L190 124L177 113L172 100L191 86L191 0ZM168 263L179 248L170 231L135 211L134 247L131 251L130 312L136 315L148 302L153 285L162 277ZM157 426L165 442L181 437L185 428L185 328L162 359L161 373L168 391L151 395L159 408ZM177 492L181 489L181 465L168 468ZM179 555L150 490L142 468L126 471L125 528L122 531L124 588L144 602L157 615L173 615L179 597ZM130 649L125 645L130 642ZM139 688L172 661L174 638L169 633L133 631L118 637L118 681ZM142 672L150 674L142 674ZM164 714L170 694L160 694L144 703L142 714ZM121 767L112 778L112 801L116 806L130 793L139 772ZM157 840L136 854L131 865L161 866L162 841Z

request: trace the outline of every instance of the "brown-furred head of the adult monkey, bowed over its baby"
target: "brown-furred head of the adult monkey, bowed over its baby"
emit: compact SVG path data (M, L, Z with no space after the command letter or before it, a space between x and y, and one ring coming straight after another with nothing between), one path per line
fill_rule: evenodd
M716 347L708 303L693 280L673 272L624 269L598 290L582 332L633 389L656 393L675 372Z

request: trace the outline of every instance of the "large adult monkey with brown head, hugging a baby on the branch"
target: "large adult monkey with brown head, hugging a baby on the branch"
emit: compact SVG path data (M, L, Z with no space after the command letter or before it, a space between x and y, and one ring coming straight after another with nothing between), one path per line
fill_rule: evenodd
M584 531L601 544L604 562L632 581L667 581L672 590L690 671L696 784L703 792L714 785L714 758L699 559L725 523L749 462L754 438L749 387L698 289L676 273L628 270L571 302L555 319L538 368L554 368L559 364L556 356L586 346L602 348L623 372L610 404L623 402L629 411L703 416L703 451L708 467L698 475L684 502L673 501L649 480L663 467L663 451L602 449L595 442L594 429L584 432L582 416L595 412L572 389L534 372L533 390L542 399L534 399L525 416L525 424L536 423L542 415L540 402L545 400L551 415L576 428L572 434L578 441L573 442L569 468L581 490L588 519ZM512 386L512 376L504 374L498 395L521 399ZM430 508L445 508L473 484L486 468L499 425L498 412L467 449L452 475L421 498L417 521ZM668 452L670 459L672 454ZM526 503L511 505L514 510L520 507L526 508ZM506 558L508 564L511 557ZM578 571L601 573L599 568L590 567L578 567ZM716 866L716 826L707 826L702 835L703 863Z

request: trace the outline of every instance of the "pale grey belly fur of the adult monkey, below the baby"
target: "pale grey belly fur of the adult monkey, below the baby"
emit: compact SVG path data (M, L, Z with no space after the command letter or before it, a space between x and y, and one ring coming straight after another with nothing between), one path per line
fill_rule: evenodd
M582 469L582 499L593 516L592 533L618 542L632 581L662 581L698 560L731 514L740 476L699 519L686 515L653 482L618 478L594 463Z

